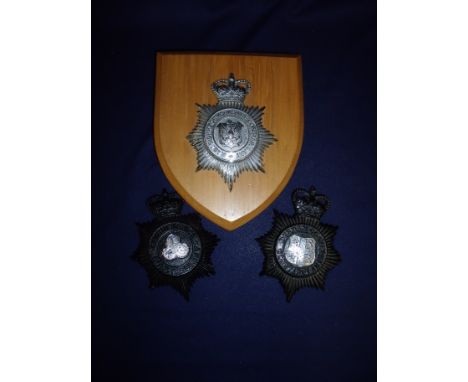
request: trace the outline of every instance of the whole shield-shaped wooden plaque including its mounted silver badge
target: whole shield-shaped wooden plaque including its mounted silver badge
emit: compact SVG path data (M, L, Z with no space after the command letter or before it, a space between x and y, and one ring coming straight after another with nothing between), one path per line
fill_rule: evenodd
M161 169L213 223L240 227L288 183L304 131L300 56L159 52L154 101Z

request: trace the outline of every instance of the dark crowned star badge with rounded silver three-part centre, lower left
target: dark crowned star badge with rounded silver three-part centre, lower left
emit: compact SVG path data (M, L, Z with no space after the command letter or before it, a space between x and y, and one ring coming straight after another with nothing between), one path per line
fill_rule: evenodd
M188 300L195 280L214 274L211 253L218 238L202 227L199 215L181 215L182 205L166 190L148 200L155 218L138 224L140 244L133 258L146 270L150 287L170 285Z

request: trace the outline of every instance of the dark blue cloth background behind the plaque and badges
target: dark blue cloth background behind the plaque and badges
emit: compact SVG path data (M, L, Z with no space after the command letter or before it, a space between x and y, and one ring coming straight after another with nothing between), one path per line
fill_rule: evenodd
M98 381L376 379L375 1L92 4L92 358ZM153 148L155 53L295 53L305 134L295 173L256 219L226 232L191 301L148 289L130 256L148 196L171 189ZM254 240L295 187L315 185L339 226L326 291L285 302ZM184 212L191 212L185 207ZM72 371L71 371L72 372Z

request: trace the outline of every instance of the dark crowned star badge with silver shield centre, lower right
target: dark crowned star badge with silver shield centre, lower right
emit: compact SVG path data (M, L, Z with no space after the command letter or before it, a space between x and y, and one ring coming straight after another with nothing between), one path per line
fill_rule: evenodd
M265 256L261 274L280 281L287 301L303 287L324 289L327 272L340 262L333 247L337 227L320 222L328 198L314 187L300 188L292 202L295 214L275 210L273 228L257 239Z

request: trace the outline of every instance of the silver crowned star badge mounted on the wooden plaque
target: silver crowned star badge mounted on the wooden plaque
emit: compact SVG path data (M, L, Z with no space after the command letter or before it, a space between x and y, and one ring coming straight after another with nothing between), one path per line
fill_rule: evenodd
M263 153L277 139L262 125L264 107L245 106L252 85L228 79L213 82L216 105L199 105L198 121L187 139L197 152L197 171L217 171L229 191L244 171L265 172Z

